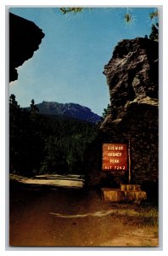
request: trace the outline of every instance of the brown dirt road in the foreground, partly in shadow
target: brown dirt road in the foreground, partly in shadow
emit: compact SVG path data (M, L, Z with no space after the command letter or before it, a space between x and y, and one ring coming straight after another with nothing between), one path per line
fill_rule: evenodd
M150 227L124 224L99 191L10 185L10 246L156 247Z

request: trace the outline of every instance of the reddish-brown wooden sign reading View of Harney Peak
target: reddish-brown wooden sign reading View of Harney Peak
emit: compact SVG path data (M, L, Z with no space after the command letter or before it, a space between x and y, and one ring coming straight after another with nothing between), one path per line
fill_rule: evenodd
M103 171L127 171L128 149L123 143L103 144Z

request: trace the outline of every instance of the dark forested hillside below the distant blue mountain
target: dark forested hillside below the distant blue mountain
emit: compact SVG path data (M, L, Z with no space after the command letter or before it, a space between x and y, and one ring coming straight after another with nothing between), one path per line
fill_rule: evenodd
M39 173L82 172L84 152L97 134L97 126L77 119L36 114L21 109L15 96L10 106L10 172L32 176ZM17 111L16 111L17 110Z

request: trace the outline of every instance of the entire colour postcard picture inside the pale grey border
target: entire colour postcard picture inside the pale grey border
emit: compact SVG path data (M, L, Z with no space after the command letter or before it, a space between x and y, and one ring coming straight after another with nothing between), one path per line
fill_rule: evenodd
M160 7L11 7L9 247L159 247Z

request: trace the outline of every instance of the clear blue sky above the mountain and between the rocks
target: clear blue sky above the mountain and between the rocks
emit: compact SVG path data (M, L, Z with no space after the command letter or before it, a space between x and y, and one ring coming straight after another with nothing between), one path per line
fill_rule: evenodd
M122 39L148 35L149 13L154 8L128 9L134 22L126 26L126 8L97 8L79 15L62 15L57 8L11 8L45 33L33 57L18 68L19 79L10 83L21 107L36 103L74 102L102 115L109 103L103 74L115 45Z

